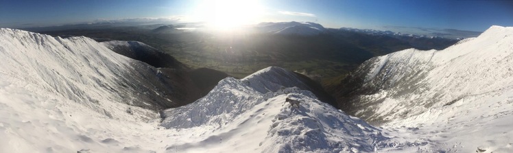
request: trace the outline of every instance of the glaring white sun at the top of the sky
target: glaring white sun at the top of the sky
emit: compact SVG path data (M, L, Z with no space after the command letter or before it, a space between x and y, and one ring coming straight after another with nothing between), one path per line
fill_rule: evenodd
M255 0L206 0L197 12L209 26L230 29L258 22L262 9Z

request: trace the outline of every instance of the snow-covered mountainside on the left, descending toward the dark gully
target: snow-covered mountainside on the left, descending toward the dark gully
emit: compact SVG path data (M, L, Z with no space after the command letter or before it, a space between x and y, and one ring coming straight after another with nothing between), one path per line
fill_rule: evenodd
M174 105L159 69L91 38L2 28L0 61L0 152L130 150L132 128Z

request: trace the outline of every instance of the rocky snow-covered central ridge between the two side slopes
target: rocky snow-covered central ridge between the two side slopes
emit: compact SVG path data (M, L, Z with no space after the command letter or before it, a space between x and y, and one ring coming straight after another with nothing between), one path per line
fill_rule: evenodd
M263 73L255 73L258 77ZM162 126L191 132L170 152L374 152L397 143L297 87L260 93L226 78L202 99L163 112ZM298 99L300 108L285 104ZM180 136L184 137L184 135Z

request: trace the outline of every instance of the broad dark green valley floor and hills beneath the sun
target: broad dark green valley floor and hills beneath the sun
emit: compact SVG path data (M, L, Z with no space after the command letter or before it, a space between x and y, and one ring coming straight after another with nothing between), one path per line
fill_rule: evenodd
M28 29L51 36L88 36L98 41L135 40L174 56L195 69L206 67L243 78L265 67L298 71L333 86L361 62L402 49L440 49L457 40L373 36L360 32L324 29L315 35L273 34L270 31L302 23L268 23L234 32L178 30L199 25L88 26ZM158 29L160 27L160 29ZM167 27L167 28L163 28ZM407 39L407 40L404 40ZM427 39L427 40L425 40ZM411 43L415 41L416 43ZM433 43L438 42L438 43ZM420 44L420 45L419 45Z

